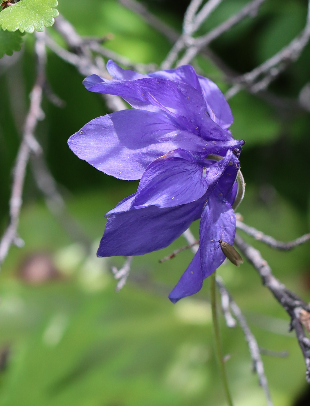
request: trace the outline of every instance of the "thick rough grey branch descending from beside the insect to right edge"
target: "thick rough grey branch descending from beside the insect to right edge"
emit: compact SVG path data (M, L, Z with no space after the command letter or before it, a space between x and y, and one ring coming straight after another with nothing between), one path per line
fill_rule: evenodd
M238 234L236 234L235 237L235 244L245 258L258 271L258 274L262 278L263 285L271 291L273 296L290 316L290 327L295 329L297 340L306 363L306 380L310 383L310 340L306 337L300 321L300 313L302 309L309 313L309 308L307 307L306 302L299 299L297 295L290 292L283 283L275 278L270 266L267 261L262 258L260 252L247 244L247 242L245 242Z

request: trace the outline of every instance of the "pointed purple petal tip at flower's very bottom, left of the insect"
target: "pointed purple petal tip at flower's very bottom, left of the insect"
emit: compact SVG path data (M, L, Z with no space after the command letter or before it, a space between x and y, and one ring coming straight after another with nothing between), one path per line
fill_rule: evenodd
M198 249L188 268L169 294L169 299L172 303L176 303L186 296L191 296L199 292L202 288L202 280L200 250Z

